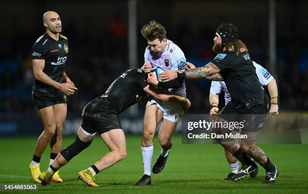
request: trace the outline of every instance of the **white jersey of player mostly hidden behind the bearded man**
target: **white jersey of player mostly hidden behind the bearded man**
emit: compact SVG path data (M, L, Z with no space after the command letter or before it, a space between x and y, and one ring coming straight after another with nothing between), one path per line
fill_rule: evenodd
M253 64L256 67L256 73L259 78L259 82L261 83L261 85L266 86L273 79L273 76L267 71L267 69L265 69L255 61L253 61ZM210 93L219 94L221 93L222 88L224 91L224 101L225 104L227 104L231 101L231 96L224 81L212 81Z

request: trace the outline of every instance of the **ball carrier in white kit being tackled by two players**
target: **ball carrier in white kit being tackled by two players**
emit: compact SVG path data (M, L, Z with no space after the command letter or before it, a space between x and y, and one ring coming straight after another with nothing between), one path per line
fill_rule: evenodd
M142 36L147 40L148 46L144 52L144 65L142 69L150 71L153 67L164 70L185 71L186 58L183 51L172 41L166 38L166 29L156 21L144 25L141 30ZM150 82L159 87L171 88L169 92L182 97L186 96L186 88L183 79L175 79L173 82ZM169 151L172 147L172 135L178 122L183 116L183 108L180 105L162 102L156 98L150 99L145 108L143 119L143 136L141 139L141 152L144 173L136 185L148 185L151 183L151 161L153 157L153 136L158 123L162 125L158 134L158 140L162 151L152 171L161 172L166 164ZM163 119L162 119L163 118Z

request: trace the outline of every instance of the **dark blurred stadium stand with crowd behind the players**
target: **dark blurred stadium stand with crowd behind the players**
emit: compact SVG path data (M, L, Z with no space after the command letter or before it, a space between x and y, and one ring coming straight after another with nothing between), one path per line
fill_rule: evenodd
M45 32L42 16L57 12L68 38L66 70L79 88L68 97L68 115L80 115L87 102L105 92L128 65L127 1L7 1L0 3L0 112L36 114L32 103L31 47ZM276 1L276 75L279 108L308 109L308 2ZM251 58L269 68L268 1L137 1L138 67L143 65L144 24L155 19L167 38L185 53L187 61L205 65L216 28L233 23ZM209 112L210 81L186 81L190 112ZM223 105L223 103L221 103Z

